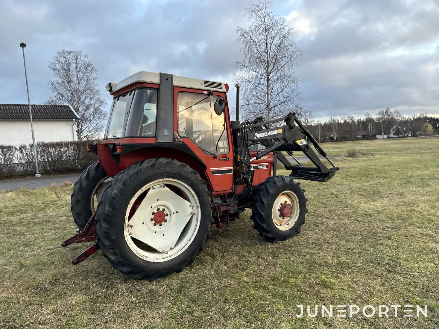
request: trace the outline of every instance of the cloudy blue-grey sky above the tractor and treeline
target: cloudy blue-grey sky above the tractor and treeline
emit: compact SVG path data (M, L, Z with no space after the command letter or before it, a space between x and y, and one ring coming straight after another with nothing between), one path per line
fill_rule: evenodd
M137 71L232 82L236 26L248 0L0 0L0 103L50 97L47 65L79 49L107 82ZM438 0L274 0L295 29L304 106L315 118L375 113L439 114ZM230 89L230 107L235 90Z

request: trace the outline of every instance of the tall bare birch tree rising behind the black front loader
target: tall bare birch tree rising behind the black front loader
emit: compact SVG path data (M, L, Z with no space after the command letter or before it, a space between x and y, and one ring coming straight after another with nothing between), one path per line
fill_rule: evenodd
M234 79L241 84L240 107L246 118L273 119L290 111L300 98L294 69L302 50L292 40L293 29L270 11L270 5L266 0L250 4L250 26L235 29L243 60L234 62Z

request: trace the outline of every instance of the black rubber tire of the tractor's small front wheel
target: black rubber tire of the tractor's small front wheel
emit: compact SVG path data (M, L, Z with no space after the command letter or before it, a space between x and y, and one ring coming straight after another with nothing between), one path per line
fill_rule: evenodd
M297 220L289 229L281 230L274 223L272 216L273 204L277 197L284 191L291 191L298 199L299 214ZM286 240L300 232L302 224L305 223L305 214L308 212L304 194L305 190L300 187L300 183L288 176L273 176L261 183L256 192L252 207L252 220L255 224L254 229L270 242Z

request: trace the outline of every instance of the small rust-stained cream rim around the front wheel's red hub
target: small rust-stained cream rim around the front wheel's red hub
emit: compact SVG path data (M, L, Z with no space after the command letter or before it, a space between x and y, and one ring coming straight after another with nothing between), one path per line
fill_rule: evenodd
M288 217L281 215L281 207L283 204L289 204L292 207L291 215ZM292 191L284 191L274 200L271 211L273 223L281 231L287 231L294 226L299 218L299 198Z

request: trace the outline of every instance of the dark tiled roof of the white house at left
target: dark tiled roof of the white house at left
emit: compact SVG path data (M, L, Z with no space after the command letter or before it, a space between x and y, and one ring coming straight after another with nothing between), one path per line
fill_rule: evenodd
M32 120L75 120L79 116L68 105L31 104ZM0 120L29 120L28 104L0 104Z

